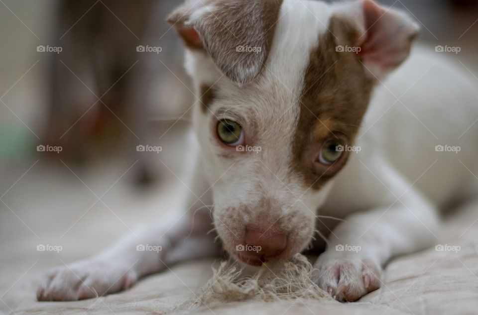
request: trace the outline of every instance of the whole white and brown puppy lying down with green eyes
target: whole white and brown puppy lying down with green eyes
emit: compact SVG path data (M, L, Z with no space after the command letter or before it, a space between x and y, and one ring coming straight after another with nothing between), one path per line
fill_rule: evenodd
M435 52L399 67L418 32L402 12L371 0L197 0L169 22L198 96L184 213L54 269L38 300L118 292L222 245L249 266L325 247L313 280L356 301L390 258L437 241L441 207L476 194L475 87Z

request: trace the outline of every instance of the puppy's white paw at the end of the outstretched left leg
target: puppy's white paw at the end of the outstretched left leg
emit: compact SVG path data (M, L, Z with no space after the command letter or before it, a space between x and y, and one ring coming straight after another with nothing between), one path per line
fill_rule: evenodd
M136 273L115 262L86 260L50 270L38 288L38 301L77 301L129 288Z

